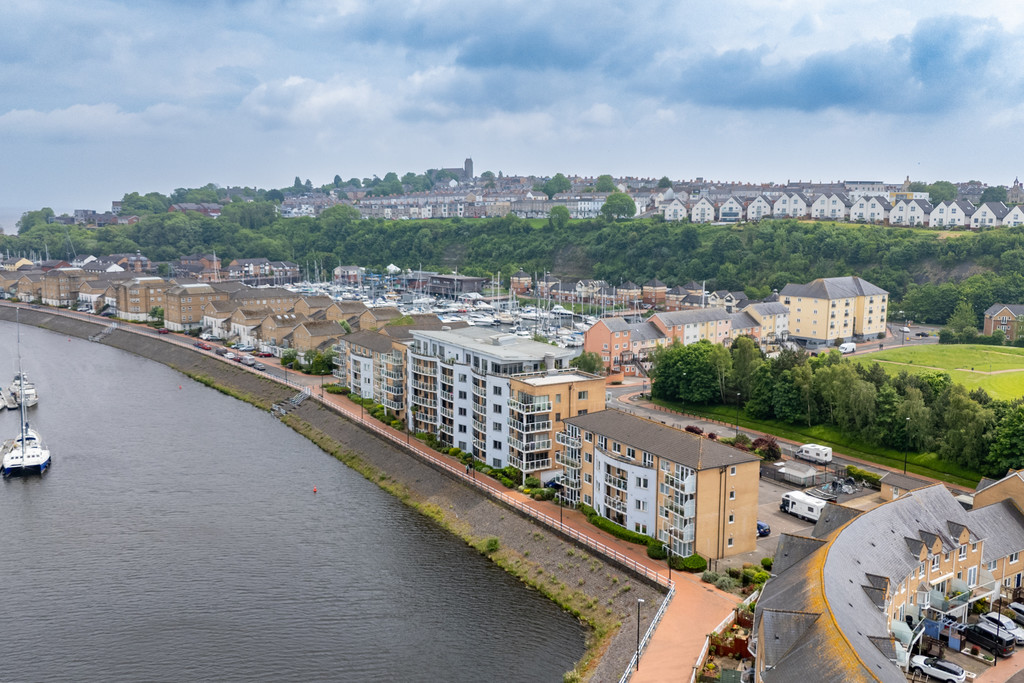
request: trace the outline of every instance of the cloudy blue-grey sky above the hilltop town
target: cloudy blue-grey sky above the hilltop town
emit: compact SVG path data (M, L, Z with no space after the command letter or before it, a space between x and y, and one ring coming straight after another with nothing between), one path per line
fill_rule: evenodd
M477 174L1009 184L1024 3L4 0L0 227Z

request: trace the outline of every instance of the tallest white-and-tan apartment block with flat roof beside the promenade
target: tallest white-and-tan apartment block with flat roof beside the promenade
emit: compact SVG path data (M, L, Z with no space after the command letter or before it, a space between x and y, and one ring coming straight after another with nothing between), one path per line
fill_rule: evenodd
M527 472L550 469L553 439L545 444L534 423L545 422L543 416L548 415L553 431L558 422L553 418L568 416L568 400L564 415L555 416L561 411L554 408L557 392L551 385L537 385L548 387L545 393L541 388L530 389L523 380L539 373L552 377L564 373L564 390L568 391L568 384L574 388L582 380L579 374L566 372L572 350L472 327L411 330L410 334L406 420L414 431L437 434L442 443L472 453L493 467L511 464L515 449L516 462L525 465ZM513 380L517 382L514 395ZM603 401L603 391L600 394ZM578 398L573 409L590 410L590 398Z

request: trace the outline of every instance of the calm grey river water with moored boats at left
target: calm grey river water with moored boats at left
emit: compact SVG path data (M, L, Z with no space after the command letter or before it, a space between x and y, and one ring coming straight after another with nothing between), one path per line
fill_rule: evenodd
M574 620L267 414L99 344L22 348L54 465L0 484L0 680L550 681L582 655Z

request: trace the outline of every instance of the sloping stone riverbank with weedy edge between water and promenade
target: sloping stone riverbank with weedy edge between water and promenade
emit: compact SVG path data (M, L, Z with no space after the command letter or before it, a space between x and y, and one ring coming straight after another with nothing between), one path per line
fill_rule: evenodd
M0 307L0 319L13 321L14 311ZM70 318L46 309L23 309L22 322L80 338L105 327L105 322ZM162 362L263 410L296 392L265 376L159 337L115 331L102 343ZM656 605L664 598L659 590L315 401L303 402L285 422L589 624L592 636L578 666L580 678L618 680L636 646L637 599ZM490 539L498 540L494 552L489 552L494 549ZM644 610L643 629L654 611ZM509 643L508 649L514 651L515 644ZM516 656L528 657L529 653Z

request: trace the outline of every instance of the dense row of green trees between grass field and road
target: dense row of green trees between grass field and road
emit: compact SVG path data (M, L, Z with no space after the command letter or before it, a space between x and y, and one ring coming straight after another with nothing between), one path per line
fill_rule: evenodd
M990 476L1024 466L1024 399L969 392L948 374L888 375L839 351L765 357L749 337L731 349L703 340L652 356L655 398L736 405L753 419L831 425L851 440L939 458Z

